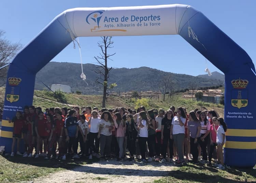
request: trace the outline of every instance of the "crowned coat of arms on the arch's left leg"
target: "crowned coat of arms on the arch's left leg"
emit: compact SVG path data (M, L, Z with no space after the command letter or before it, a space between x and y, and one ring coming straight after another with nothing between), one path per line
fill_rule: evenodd
M6 94L6 100L8 100L10 103L17 102L19 100L19 87L18 85L22 79L16 78L16 77L9 77L8 83L9 86L11 86L11 92L10 94Z

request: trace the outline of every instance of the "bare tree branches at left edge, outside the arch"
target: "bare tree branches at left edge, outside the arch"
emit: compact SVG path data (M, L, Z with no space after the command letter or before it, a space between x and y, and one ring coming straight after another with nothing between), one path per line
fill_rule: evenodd
M20 43L11 43L11 41L3 37L4 34L5 32L0 30L0 68L10 63L17 51L22 48ZM8 67L4 67L0 70L0 86L3 86L5 83L7 71Z

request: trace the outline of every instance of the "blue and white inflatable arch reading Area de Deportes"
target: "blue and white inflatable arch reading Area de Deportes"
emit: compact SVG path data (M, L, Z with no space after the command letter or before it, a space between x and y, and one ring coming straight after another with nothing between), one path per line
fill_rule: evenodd
M6 117L32 105L35 75L80 36L181 35L225 74L230 166L256 163L256 74L247 53L201 12L188 5L74 8L59 14L13 59L7 77L0 145L11 151L13 126Z

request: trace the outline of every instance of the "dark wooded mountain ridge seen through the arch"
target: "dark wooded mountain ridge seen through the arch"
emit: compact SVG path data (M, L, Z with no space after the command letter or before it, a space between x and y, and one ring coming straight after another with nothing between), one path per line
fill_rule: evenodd
M95 80L98 76L93 70L96 68L93 64L84 64L83 70L86 75L86 84L81 78L81 65L78 63L68 62L49 62L37 74L35 81L35 90L42 90L45 86L41 83L43 81L47 86L52 84L69 85L72 91L82 91L83 94L102 94L103 88L101 85L96 85ZM112 91L127 92L127 91L147 91L158 90L161 85L163 77L171 76L174 83L174 89L180 90L193 87L207 87L223 85L223 80L214 79L213 77L204 78L198 76L191 76L186 74L174 74L164 72L148 67L140 68L117 68L110 71L109 83L116 83Z

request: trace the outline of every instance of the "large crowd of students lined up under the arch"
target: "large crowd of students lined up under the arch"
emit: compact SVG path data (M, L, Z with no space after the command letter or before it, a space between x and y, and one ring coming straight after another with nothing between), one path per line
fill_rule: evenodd
M11 156L17 141L16 154L23 157L33 157L35 148L35 158L114 156L122 161L127 159L128 148L130 161L136 157L141 162L170 161L179 165L198 164L202 152L201 163L212 164L214 156L218 159L217 168L225 168L223 145L227 125L214 110L195 109L187 114L185 108L175 111L173 106L167 111L161 108L146 111L144 106L137 111L125 108L99 111L97 107L92 110L86 106L80 113L80 107L75 106L50 108L43 113L40 107L25 106L24 113L17 111L8 120L14 123ZM24 154L19 152L22 134ZM77 153L79 144L81 152Z

